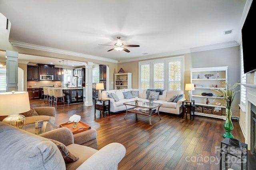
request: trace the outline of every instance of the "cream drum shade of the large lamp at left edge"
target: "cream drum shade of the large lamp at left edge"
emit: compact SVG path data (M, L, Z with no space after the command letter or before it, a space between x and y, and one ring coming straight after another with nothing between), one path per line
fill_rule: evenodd
M0 93L0 116L20 114L30 110L28 92Z

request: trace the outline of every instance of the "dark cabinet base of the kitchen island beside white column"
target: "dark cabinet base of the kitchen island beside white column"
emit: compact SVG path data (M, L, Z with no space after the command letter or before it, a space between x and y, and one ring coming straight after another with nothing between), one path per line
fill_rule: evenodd
M63 89L63 93L67 104L84 102L84 89L82 88Z

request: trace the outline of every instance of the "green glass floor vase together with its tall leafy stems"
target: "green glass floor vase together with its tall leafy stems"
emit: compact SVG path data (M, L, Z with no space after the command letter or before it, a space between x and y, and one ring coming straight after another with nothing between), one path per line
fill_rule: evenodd
M228 82L222 82L222 88L220 88L219 90L214 90L216 94L223 96L224 100L226 100L226 121L224 123L224 129L226 130L226 132L222 135L223 138L234 138L234 136L231 134L231 131L234 129L231 120L231 105L234 100L234 97L236 96L236 93L240 91L236 90L237 85L238 82L236 82L233 86L228 84Z

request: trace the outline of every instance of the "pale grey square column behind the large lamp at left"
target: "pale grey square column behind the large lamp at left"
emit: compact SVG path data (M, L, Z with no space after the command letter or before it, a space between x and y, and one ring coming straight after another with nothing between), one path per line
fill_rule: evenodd
M6 92L18 91L18 52L6 51Z

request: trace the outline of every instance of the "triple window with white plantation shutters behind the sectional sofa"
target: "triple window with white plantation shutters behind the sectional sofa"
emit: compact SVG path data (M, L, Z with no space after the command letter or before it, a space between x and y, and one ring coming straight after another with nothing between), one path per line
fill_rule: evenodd
M184 90L184 56L139 62L139 89Z

